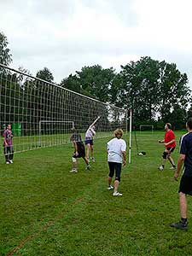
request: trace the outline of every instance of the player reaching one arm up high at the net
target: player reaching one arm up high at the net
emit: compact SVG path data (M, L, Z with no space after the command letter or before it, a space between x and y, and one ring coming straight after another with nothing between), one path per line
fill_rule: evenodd
M96 122L100 119L100 116L90 125L85 133L85 145L86 145L86 157L89 160L89 154L91 152L91 160L95 162L94 154L93 154L93 137L96 135Z

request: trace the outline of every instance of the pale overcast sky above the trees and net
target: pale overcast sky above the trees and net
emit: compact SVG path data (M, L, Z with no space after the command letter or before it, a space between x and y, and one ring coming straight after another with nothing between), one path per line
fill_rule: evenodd
M113 67L142 56L176 63L192 89L191 0L0 0L10 67L55 82L84 66Z

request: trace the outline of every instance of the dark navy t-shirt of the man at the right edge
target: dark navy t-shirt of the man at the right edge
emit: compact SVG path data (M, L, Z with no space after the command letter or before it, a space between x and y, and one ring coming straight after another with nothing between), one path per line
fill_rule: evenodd
M192 132L183 135L180 154L185 154L183 175L192 177Z

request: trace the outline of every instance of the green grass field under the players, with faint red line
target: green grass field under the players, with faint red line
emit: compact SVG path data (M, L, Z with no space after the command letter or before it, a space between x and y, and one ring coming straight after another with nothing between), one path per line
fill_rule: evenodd
M79 160L79 172L69 172L71 144L15 154L14 165L1 158L0 255L192 255L190 198L189 230L169 227L179 219L179 183L168 163L165 171L157 170L163 150L157 140L163 135L137 134L146 156L137 156L133 139L122 197L107 190L109 138L96 140L90 171ZM177 155L175 150L174 160Z

